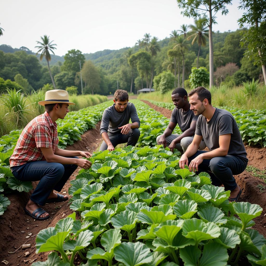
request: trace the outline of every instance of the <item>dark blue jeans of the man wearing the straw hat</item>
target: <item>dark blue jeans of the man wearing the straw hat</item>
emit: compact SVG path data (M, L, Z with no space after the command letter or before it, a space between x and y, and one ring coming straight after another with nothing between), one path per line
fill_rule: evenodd
M21 181L40 180L30 199L38 205L44 205L52 190L54 189L60 192L77 167L76 164L34 161L19 166L13 166L11 171L14 177Z

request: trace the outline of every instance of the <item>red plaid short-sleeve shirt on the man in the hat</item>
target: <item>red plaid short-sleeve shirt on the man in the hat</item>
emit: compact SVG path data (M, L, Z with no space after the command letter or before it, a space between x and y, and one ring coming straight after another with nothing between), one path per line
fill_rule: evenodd
M45 111L31 120L23 129L14 152L9 159L10 167L32 161L45 161L40 147L52 148L53 153L58 145L57 124L53 123Z

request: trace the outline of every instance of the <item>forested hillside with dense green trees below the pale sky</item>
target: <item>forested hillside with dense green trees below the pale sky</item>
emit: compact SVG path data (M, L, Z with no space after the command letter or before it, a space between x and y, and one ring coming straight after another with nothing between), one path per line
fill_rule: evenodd
M243 31L213 33L215 85L234 86L242 81L260 78L261 69L244 56L246 47L240 46ZM181 30L179 32L182 33ZM64 57L51 55L51 74L56 88L76 86L78 93L81 93L81 60L85 93L110 94L117 86L136 93L138 89L153 87L154 77L164 71L175 76L176 86L182 86L184 80L184 86L189 87L188 78L197 61L198 67L209 70L209 40L205 36L199 51L198 41L192 45L193 38L188 38L192 33L187 27L187 32L178 35L178 31L174 30L169 33L169 38L163 40L145 34L142 39L136 40L132 48L107 49L90 54L73 49ZM27 93L45 84L50 84L46 85L45 90L52 88L47 61L40 61L40 55L36 57L26 47L17 49L4 44L0 45L0 50L0 77L3 80L16 81L19 88L22 86ZM0 85L0 91L4 87Z

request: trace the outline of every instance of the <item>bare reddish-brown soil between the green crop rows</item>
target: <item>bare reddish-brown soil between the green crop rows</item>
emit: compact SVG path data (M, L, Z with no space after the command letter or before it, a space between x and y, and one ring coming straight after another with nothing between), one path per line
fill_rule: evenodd
M164 116L170 118L172 113L170 110L152 105L149 102L146 103L152 108L154 108L156 111L159 111ZM99 127L100 123L98 123L94 129L86 131L81 136L81 140L71 146L67 146L66 149L83 150L93 153L102 143L102 138L99 135ZM246 147L246 150L248 153L248 159L250 160L249 165L253 165L263 170L266 165L266 149ZM68 195L68 188L70 187L69 182L75 178L79 170L80 169L78 168L69 178L61 193L63 193L64 195ZM240 196L240 201L256 203L263 208L263 212L260 217L257 217L255 219L256 225L254 226L254 229L258 230L260 234L263 234L264 237L266 237L266 215L265 217L263 216L266 213L266 193L261 193L259 188L257 188L257 185L265 185L264 181L252 176L246 171L244 171L242 174L235 176L235 178L243 190L243 193ZM36 182L33 182L34 188L36 187L36 184ZM41 229L55 226L60 219L72 213L72 210L69 209L68 201L59 203L49 203L46 204L44 208L49 212L50 218L44 221L34 221L34 219L32 219L30 216L24 214L23 210L23 207L29 200L29 196L30 193L19 192L13 192L8 195L11 204L10 206L8 206L5 213L0 216L0 233L2 234L2 242L0 243L0 263L3 260L7 260L9 262L8 266L28 266L31 265L33 261L46 260L49 252L43 252L38 254L35 253L36 235ZM28 233L32 234L29 236ZM29 237L26 238L26 236ZM31 244L30 248L22 250L20 246L24 243ZM30 255L25 257L25 252L30 252ZM1 263L1 265L5 264Z

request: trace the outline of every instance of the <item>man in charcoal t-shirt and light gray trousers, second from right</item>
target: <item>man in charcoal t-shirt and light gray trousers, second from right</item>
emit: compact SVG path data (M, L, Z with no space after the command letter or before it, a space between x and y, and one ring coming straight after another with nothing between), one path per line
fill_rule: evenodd
M176 88L173 90L172 101L175 108L172 112L170 122L164 133L156 138L156 141L158 144L163 144L164 147L168 146L172 152L176 148L183 153L193 140L198 116L195 116L193 111L190 110L188 93L184 88ZM181 135L172 134L177 124L183 132ZM206 145L202 140L199 149L203 150L205 147Z

